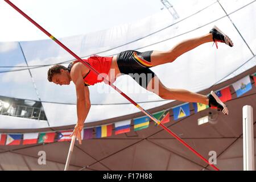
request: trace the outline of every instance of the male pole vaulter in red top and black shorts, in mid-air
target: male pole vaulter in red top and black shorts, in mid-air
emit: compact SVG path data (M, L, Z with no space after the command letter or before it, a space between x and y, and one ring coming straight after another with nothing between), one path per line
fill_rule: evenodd
M209 34L184 40L168 51L124 51L113 57L91 56L84 59L91 67L96 69L102 75L108 78L113 83L118 76L122 74L146 74L144 79L133 77L143 88L150 92L158 94L159 97L166 100L179 100L183 102L200 102L201 104L209 105L209 107L217 107L224 114L228 114L228 108L217 95L212 91L207 96L189 92L184 89L171 89L162 84L159 78L151 71L151 67L157 65L171 63L177 57L185 52L190 51L201 44L214 42L217 47L217 42L225 43L233 47L233 42L219 28L214 26ZM110 74L110 70L114 74ZM131 76L131 75L130 75ZM90 110L89 85L94 85L102 82L98 76L90 71L85 65L79 61L73 61L68 65L68 68L63 65L54 65L48 70L48 81L59 85L69 85L71 81L76 85L77 95L77 124L72 135L75 135L81 144L81 130L84 127L84 121ZM104 77L105 78L105 77ZM71 136L72 136L71 135Z

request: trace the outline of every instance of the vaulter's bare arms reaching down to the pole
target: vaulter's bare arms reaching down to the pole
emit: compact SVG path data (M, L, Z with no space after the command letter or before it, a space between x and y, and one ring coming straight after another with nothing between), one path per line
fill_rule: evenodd
M82 79L80 68L75 67L75 69L72 69L72 72L71 77L76 85L77 124L71 136L75 135L81 144L81 131L84 128L84 121L90 110L90 96L88 87L84 86L84 80Z

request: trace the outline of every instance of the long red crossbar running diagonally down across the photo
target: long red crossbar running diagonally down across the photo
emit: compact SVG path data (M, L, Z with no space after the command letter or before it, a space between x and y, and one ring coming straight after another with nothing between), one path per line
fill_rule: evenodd
M41 31L44 32L44 34L46 34L47 36L49 36L49 38L51 38L53 41L55 41L57 44L59 44L59 46L61 46L62 48L64 48L67 52L69 52L72 56L74 56L77 60L79 60L82 64L84 64L87 68L89 68L93 73L95 73L96 75L100 76L100 78L103 78L104 82L106 84L109 84L112 88L114 88L115 90L117 90L118 93L120 93L123 97L125 97L127 100L129 100L133 105L135 105L136 107L138 107L139 110L141 110L144 114L146 114L148 117L150 117L152 119L152 121L155 121L156 123L158 123L158 125L162 126L164 130L166 130L168 133L170 133L174 138L176 138L177 140L179 140L179 142L181 142L182 144L184 144L185 147L187 147L189 150L191 150L193 153L195 153L197 156L199 156L199 158L201 158L202 160L204 160L204 162L206 162L207 164L209 164L210 166L212 166L216 171L219 171L220 169L218 169L216 166L214 166L213 164L209 163L209 161L207 159L205 159L202 155L199 154L199 152L197 152L196 150L194 150L191 146L189 146L186 142L184 142L181 138L179 138L175 133L173 133L170 129L168 129L166 126L164 126L162 123L160 123L158 121L158 119L156 119L155 117L153 117L150 113L148 113L147 110L144 110L141 106L139 106L136 102L134 102L133 100L131 100L130 97L126 96L125 93L123 93L121 90L119 90L117 87L115 87L110 81L108 81L106 78L104 78L100 73L98 73L94 68L90 67L90 65L88 63L86 63L85 61L83 61L79 56L77 56L74 52L71 51L71 49L67 48L66 46L64 46L64 44L62 44L59 40L57 40L54 36L52 36L51 34L49 34L48 31L46 31L43 27L41 27L38 23L36 23L34 20L32 20L30 18L30 16L28 16L27 14L25 14L22 10L20 10L18 7L16 7L12 2L10 2L9 0L4 0L6 3L8 3L11 7L13 7L16 11L18 11L20 14L22 14L26 19L28 19L31 23L33 23L36 27L38 27ZM75 141L74 141L75 142ZM72 142L71 142L72 145ZM73 150L73 146L70 146ZM70 149L70 148L69 148ZM69 154L68 154L69 155ZM69 156L69 160L70 160Z

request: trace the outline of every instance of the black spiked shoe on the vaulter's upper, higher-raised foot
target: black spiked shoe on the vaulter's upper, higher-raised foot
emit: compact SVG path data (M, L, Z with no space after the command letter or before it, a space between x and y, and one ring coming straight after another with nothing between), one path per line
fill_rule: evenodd
M228 37L228 35L224 34L217 26L214 26L212 30L210 30L210 34L212 34L213 42L216 44L217 48L217 42L225 43L230 47L234 46L232 40Z

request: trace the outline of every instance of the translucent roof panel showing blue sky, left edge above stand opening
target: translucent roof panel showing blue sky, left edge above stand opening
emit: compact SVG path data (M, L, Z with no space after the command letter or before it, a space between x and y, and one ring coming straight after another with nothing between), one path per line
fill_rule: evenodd
M21 66L22 68L11 68L14 66ZM28 70L6 72L26 69L26 66L18 42L0 43L0 67L4 67L0 68L0 96L38 100Z

